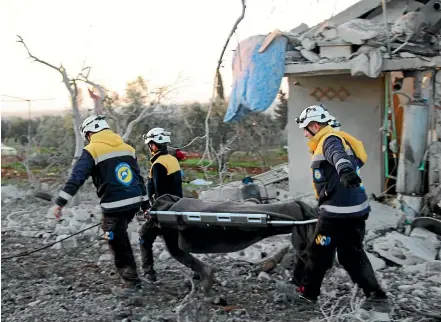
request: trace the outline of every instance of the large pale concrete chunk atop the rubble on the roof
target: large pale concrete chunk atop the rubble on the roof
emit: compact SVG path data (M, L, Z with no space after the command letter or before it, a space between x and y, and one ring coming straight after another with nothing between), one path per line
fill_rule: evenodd
M353 19L337 27L338 37L354 45L363 45L367 40L384 33L384 27L365 19Z

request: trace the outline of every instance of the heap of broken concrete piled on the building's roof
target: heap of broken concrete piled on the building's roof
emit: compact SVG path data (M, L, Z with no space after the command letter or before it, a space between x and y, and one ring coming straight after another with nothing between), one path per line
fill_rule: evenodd
M381 17L381 15L380 15ZM289 40L287 64L351 63L352 76L378 77L383 59L440 56L439 30L426 27L423 12L409 12L387 26L381 19L355 18L336 25L325 22L290 32L276 30ZM389 50L390 49L390 50Z

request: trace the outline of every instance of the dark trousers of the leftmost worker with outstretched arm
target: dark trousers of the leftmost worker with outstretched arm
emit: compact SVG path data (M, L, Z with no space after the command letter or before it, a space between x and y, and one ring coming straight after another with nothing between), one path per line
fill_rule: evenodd
M104 214L102 217L102 229L114 255L116 269L127 283L138 282L136 262L127 234L128 225L135 214L136 210L130 210L111 215Z

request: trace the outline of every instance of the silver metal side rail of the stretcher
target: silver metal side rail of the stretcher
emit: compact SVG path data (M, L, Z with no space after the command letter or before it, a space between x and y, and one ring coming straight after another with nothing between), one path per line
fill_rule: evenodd
M199 211L149 211L158 219L159 224L183 223L190 226L234 226L234 227L269 227L296 226L315 224L317 219L309 220L273 220L276 215L248 214L230 212L199 212ZM285 216L280 216L285 219Z

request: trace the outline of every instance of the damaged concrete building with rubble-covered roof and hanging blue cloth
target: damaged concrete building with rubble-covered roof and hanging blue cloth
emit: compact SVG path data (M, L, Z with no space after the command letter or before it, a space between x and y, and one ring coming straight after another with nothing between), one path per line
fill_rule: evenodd
M225 121L267 109L288 77L289 196L312 192L310 155L295 117L324 104L342 130L363 141L369 193L396 191L418 213L422 195L439 184L439 162L428 151L441 138L440 27L439 0L363 0L312 28L250 37L233 58ZM263 74L265 82L257 80Z

